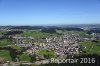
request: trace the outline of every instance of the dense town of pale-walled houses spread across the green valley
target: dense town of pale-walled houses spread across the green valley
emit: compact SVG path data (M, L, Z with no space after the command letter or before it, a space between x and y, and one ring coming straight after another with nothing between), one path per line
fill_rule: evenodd
M37 54L42 49L52 50L57 57L63 58L68 55L79 53L79 36L75 34L64 34L61 37L51 36L42 39L42 42L35 41L32 37L13 37L16 45L29 47L28 54Z

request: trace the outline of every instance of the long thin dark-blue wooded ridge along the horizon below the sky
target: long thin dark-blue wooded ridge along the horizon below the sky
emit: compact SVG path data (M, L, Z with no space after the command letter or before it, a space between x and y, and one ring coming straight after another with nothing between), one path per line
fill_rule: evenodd
M57 26L15 26L15 27L12 27L11 29L27 29L27 30L34 30L34 29L46 29L46 30L49 30L49 29L60 29L60 30L77 30L77 31L82 31L81 28L73 28L73 27L57 27Z

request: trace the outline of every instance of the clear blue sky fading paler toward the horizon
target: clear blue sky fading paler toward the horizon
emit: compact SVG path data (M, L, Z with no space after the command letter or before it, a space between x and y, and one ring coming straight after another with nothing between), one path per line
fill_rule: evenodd
M100 24L100 0L0 0L0 25Z

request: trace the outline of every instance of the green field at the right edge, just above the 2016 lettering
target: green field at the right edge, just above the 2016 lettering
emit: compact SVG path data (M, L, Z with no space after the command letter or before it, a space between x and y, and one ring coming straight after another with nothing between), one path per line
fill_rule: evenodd
M100 44L100 42L98 42ZM100 45L91 41L81 42L81 45L86 47L83 51L86 51L85 54L98 54L100 55Z

